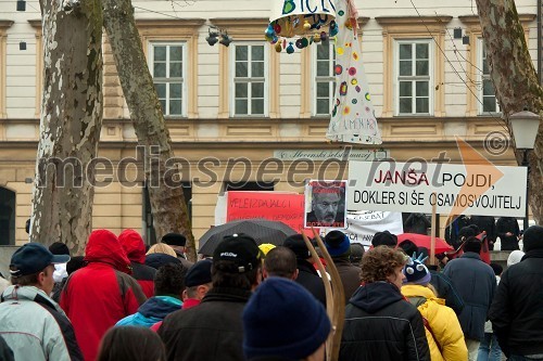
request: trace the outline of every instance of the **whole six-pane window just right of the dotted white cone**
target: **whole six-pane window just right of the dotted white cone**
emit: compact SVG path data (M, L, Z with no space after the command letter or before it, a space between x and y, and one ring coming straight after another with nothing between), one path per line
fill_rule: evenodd
M430 114L432 99L432 63L430 40L397 41L396 113Z

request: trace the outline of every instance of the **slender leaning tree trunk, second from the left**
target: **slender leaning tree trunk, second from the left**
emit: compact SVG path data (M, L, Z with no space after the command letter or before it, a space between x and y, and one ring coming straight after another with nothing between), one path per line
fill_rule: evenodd
M149 72L130 0L103 0L104 27L110 38L123 93L140 145L146 147L146 179L159 240L168 232L187 237L189 259L195 259L187 205L174 159L172 140ZM153 157L151 157L153 155ZM151 159L152 158L152 159Z

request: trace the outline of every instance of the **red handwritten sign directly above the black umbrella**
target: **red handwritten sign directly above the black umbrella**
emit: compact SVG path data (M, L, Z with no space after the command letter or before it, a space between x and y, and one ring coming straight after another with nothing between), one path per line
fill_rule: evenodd
M300 231L304 220L304 196L280 192L228 192L226 221L264 218L281 221Z

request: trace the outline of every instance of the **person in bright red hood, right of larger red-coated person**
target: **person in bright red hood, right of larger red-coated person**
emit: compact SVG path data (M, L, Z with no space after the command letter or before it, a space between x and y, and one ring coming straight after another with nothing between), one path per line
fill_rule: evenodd
M146 265L146 243L135 230L124 230L118 235L118 242L126 252L132 268L132 278L138 281L146 297L154 296L154 276L156 270Z

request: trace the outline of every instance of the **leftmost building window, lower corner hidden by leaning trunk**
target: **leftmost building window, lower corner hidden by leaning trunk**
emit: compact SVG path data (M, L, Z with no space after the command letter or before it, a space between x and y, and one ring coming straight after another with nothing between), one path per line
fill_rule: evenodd
M151 74L165 116L185 116L185 44L152 42Z

